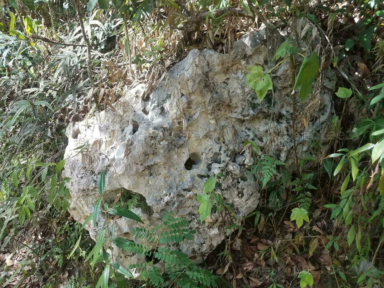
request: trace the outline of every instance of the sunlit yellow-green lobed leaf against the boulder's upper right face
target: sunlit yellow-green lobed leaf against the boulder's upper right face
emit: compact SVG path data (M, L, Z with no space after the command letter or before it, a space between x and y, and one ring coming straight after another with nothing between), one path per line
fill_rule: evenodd
M260 102L264 99L268 90L272 90L272 80L269 74L263 73L261 66L248 67L247 84L255 90Z

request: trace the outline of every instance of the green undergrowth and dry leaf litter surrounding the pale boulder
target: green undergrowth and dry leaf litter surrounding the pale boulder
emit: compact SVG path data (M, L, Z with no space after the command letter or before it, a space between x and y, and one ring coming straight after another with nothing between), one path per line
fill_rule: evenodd
M2 287L377 287L384 263L384 4L380 1L7 0L0 3L0 286ZM70 216L62 177L66 127L138 84L145 99L193 48L230 53L265 29L285 35L270 71L247 83L269 103L271 71L289 65L295 161L244 139L260 207L244 219L210 175L197 196L201 225L220 214L224 241L201 263L183 252L189 219L170 212L152 230L132 210L149 207L121 189L100 197L86 223ZM331 143L296 137L315 121L324 73L336 74ZM307 103L296 111L296 103ZM82 149L82 147L79 147ZM92 159L89 158L91 162ZM90 165L92 163L89 163ZM114 236L119 217L138 223ZM96 243L84 226L103 222ZM161 244L161 245L160 245ZM144 257L121 266L107 247ZM132 257L133 257L132 256ZM134 277L135 276L135 277ZM133 279L136 278L137 280Z

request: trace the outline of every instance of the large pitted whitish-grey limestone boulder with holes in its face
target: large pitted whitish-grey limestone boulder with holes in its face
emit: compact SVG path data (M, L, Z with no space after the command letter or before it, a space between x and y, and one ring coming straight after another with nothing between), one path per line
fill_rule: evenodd
M197 230L194 241L183 243L184 252L200 258L212 251L223 239L220 218L212 214L201 224L196 200L209 175L225 174L226 202L241 219L257 207L260 197L253 176L247 176L253 159L247 151L242 152L242 143L255 141L287 163L294 159L289 63L273 70L274 91L269 91L262 103L246 83L248 66L261 65L266 72L275 65L268 61L273 56L268 53L275 49L264 46L263 38L258 32L246 35L229 55L194 49L169 70L149 97L143 99L144 85L138 86L114 104L116 112L103 111L72 123L67 131L64 174L70 177L73 217L84 222L92 212L99 197L98 176L106 169L109 203L121 187L139 193L151 212L133 211L141 215L146 227L154 227L165 212L173 210ZM296 136L303 156L310 154L312 139L323 144L329 141L334 81L330 71L326 74L318 81L317 100L297 102L296 110L302 115L298 128L303 121L307 127ZM308 111L307 105L308 117L303 112ZM83 144L82 153L74 150ZM97 227L89 222L86 228L91 237L97 237L103 223L102 215ZM119 218L114 235L129 238L128 232L135 226L137 223ZM113 251L124 265L138 260L121 250Z

